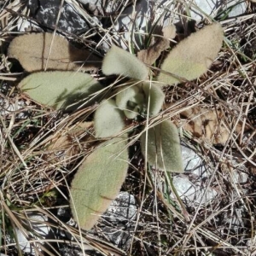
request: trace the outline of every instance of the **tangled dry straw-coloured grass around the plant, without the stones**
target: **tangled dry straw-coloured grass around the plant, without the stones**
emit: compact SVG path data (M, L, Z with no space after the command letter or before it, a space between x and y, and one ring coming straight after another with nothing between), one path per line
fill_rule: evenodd
M122 6L127 4L120 5L112 21L122 14ZM173 14L183 14L183 3L177 1L175 5ZM192 205L182 201L172 184L175 174L169 175L145 166L138 143L134 143L131 147L131 168L123 190L136 196L139 211L137 218L126 225L125 233L131 235L132 241L131 247L124 251L106 239L102 232L102 225L105 224L102 220L95 230L84 232L76 225L67 224L68 219L56 214L58 209L63 208L69 216L68 186L79 163L90 154L97 142L91 138L88 141L88 133L83 133L70 138L67 150L53 152L48 145L56 137L68 137L68 131L74 125L85 119L90 120L96 106L63 115L20 95L15 85L25 73L22 70L18 73L20 69L14 67L15 72L10 71L12 62L6 56L6 49L19 33L17 21L28 20L28 10L26 1L8 0L3 3L0 9L2 252L22 255L15 245L15 230L18 228L31 239L37 255L44 252L64 255L56 249L56 245L61 244L71 247L70 255L78 255L79 248L86 249L89 255L255 255L255 8L255 4L249 4L247 13L238 19L220 21L224 27L224 46L211 69L193 83L166 88L166 108L155 118L171 118L181 125L183 119L180 113L192 106L223 113L224 125L230 131L224 145L212 146L201 137L181 129L183 140L195 145L205 161L207 178L201 181L202 191L207 193L207 189L213 188L218 192L217 196L207 206L202 201ZM80 11L84 12L83 9ZM180 17L183 21L188 20L185 15ZM132 26L130 29L133 32ZM90 33L79 37L66 35L97 52L102 52L103 42L120 44L109 27L96 26ZM97 41L93 41L95 38ZM125 44L130 49L136 48L131 42ZM152 70L157 73L156 69ZM100 74L97 77L107 84L108 79ZM20 102L23 102L22 105ZM237 134L235 130L239 123L241 130ZM136 127L140 123L130 125ZM70 148L76 148L72 156L67 154L68 150L72 150ZM236 170L247 173L246 182L236 183ZM183 176L192 183L196 182L189 173ZM174 196L170 197L170 194ZM67 239L49 237L44 239L44 245L40 239L33 240L31 234L36 230L30 226L30 215L40 212L48 217L47 225L52 230L67 232Z

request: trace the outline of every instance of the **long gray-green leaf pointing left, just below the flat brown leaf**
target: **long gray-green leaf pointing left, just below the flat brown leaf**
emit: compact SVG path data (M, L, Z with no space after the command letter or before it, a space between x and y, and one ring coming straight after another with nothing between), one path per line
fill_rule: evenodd
M76 72L39 72L28 75L18 85L20 90L33 101L56 109L70 111L78 107L78 102L90 96L102 85L87 73Z

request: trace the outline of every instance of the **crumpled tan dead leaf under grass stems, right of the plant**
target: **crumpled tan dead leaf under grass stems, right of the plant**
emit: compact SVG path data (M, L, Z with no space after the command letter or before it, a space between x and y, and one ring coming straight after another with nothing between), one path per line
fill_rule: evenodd
M230 137L230 129L224 124L224 113L217 110L195 107L181 113L186 122L183 129L190 131L195 137L211 144L224 145ZM236 132L241 131L241 123L236 126Z

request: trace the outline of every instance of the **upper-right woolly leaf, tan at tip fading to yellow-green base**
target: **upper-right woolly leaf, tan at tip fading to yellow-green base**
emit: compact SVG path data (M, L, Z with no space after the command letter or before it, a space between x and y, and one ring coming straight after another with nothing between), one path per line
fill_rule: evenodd
M219 23L213 23L199 32L192 33L172 49L161 69L188 80L200 77L207 72L207 68L218 55L223 37ZM179 79L167 73L160 73L158 81L165 84L180 83Z

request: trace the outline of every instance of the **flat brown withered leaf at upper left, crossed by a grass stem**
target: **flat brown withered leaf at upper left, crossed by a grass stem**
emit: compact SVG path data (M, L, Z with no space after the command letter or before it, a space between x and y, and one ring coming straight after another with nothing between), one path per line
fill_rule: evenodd
M66 38L53 33L26 34L9 45L9 58L20 61L27 72L41 70L90 70L101 66L101 59L89 50L77 49Z

